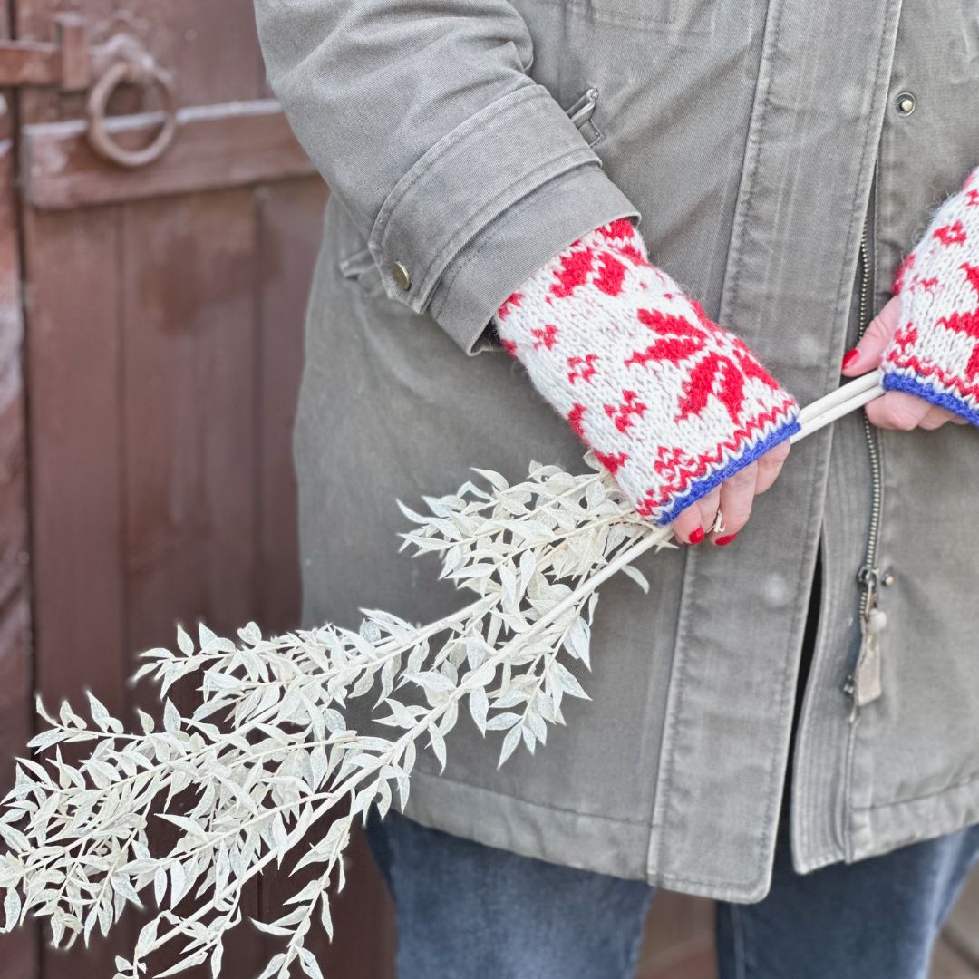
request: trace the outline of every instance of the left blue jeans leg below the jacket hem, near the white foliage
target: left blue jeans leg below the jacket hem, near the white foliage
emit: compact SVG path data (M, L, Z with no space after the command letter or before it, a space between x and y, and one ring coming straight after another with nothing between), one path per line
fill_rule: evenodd
M389 881L398 979L632 979L655 888L450 836L391 812L367 840Z

